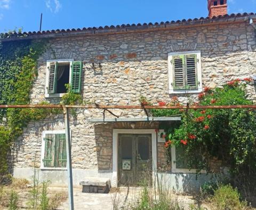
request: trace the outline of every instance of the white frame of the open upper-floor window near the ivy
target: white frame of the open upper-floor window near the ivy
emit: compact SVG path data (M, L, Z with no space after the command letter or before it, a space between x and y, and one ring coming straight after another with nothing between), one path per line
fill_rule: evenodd
M74 59L59 59L46 61L46 76L45 76L45 98L61 98L65 93L48 93L49 86L49 69L51 62L68 63L69 62L69 84L71 84L71 66Z

